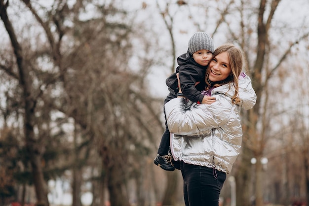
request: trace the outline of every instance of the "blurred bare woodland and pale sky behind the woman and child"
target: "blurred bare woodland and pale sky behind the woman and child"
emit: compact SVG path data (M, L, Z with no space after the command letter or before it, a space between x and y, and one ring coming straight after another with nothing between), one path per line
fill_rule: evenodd
M197 31L244 50L225 206L309 203L308 0L0 0L0 206L183 206L154 165L165 78ZM60 182L60 186L59 183ZM61 192L55 188L61 188ZM90 200L90 201L89 201Z

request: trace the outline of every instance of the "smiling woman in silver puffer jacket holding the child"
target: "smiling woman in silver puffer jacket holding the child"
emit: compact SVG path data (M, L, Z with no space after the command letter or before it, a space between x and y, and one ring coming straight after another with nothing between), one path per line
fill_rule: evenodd
M251 80L241 73L242 51L233 44L218 47L205 74L205 93L212 104L179 98L165 104L171 152L180 161L186 206L218 206L226 174L241 147L240 107L256 102Z

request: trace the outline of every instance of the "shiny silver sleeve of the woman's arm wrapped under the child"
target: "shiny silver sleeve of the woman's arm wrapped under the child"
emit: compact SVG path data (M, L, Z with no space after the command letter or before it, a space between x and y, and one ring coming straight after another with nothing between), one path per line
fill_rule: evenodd
M229 121L232 110L230 98L216 95L212 104L194 104L189 108L184 98L175 98L165 104L168 129L176 135L202 134L222 127Z

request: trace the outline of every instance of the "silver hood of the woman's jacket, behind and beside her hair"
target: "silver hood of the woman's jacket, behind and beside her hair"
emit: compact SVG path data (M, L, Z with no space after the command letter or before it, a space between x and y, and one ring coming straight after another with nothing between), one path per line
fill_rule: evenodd
M244 72L241 72L238 79L240 102L237 105L245 110L251 109L255 105L257 98L256 93L252 88L251 79ZM232 98L234 96L235 89L232 83L230 83L213 89L211 93L222 93Z

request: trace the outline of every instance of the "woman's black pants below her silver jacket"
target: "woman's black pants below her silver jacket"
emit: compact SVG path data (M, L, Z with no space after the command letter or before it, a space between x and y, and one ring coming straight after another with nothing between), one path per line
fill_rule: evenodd
M226 173L213 168L180 163L186 206L219 206Z

